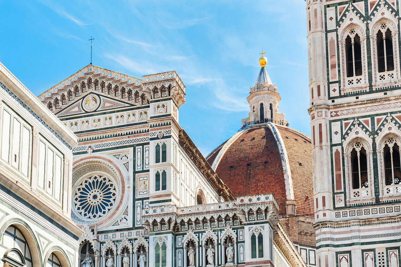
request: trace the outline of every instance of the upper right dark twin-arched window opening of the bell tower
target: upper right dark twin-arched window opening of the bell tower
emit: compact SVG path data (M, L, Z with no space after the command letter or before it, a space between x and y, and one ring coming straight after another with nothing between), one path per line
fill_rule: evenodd
M386 30L387 29L387 30ZM394 70L392 33L385 23L382 23L376 34L378 72Z

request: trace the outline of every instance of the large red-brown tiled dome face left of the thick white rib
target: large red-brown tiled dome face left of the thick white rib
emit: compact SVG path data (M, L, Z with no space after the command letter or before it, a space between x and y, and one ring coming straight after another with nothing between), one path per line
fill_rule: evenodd
M234 197L273 193L286 213L286 186L277 143L270 129L251 127L227 149L216 169Z

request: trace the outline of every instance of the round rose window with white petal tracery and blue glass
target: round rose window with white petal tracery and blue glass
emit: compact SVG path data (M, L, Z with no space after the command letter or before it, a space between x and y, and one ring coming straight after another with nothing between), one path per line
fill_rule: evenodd
M73 203L83 218L95 220L105 216L117 198L115 182L107 176L94 175L77 186Z

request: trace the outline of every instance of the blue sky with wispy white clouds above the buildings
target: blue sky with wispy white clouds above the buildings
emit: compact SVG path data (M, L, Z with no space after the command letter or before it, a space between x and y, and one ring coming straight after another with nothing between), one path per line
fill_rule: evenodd
M247 117L260 70L290 126L310 134L302 0L1 1L0 61L35 95L90 63L142 77L175 70L186 85L180 125L206 156Z

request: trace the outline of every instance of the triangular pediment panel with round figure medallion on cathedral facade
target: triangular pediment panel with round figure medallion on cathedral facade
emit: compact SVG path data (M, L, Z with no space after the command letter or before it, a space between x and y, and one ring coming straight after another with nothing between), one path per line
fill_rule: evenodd
M66 107L63 107L55 114L58 117L65 117L70 115L77 115L83 113L98 113L105 110L119 109L123 107L135 106L132 103L123 101L122 99L115 99L107 95L91 92Z

